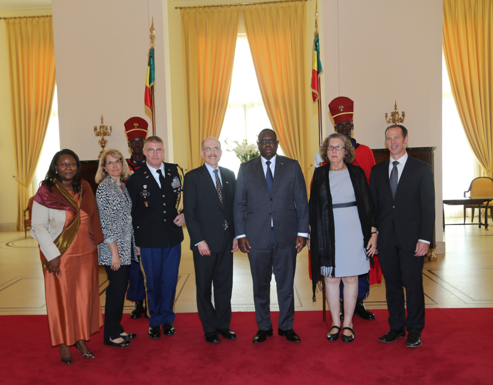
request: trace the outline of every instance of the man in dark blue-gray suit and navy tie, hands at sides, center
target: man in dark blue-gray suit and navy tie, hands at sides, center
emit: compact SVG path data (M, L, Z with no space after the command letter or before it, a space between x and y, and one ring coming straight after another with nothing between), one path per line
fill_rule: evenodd
M254 343L272 336L270 280L274 272L279 319L277 332L300 342L293 330L296 255L308 237L308 199L298 161L276 155L274 131L258 135L260 157L240 166L234 203L238 246L248 253L258 332Z

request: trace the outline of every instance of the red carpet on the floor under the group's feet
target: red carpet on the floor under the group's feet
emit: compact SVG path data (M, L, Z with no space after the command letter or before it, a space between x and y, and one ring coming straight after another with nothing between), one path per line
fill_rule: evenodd
M126 383L300 384L323 380L336 384L483 384L491 383L493 365L490 333L493 309L429 309L423 345L405 347L378 341L388 330L387 311L375 321L355 317L355 341L325 338L329 323L321 312L297 312L295 331L300 344L276 331L253 344L253 313L234 313L231 328L238 339L207 344L195 313L178 314L176 335L147 337L147 319L124 315L125 330L137 333L127 348L103 345L103 330L88 343L96 359L82 358L72 348L71 366L60 362L52 348L46 316L2 316L0 383L59 383L81 385Z

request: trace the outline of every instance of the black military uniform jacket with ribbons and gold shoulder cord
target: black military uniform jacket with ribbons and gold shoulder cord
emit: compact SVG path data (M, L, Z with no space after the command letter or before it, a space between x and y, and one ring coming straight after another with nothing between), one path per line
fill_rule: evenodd
M176 205L183 188L183 171L178 165L163 163L164 193L148 165L136 170L126 183L132 200L133 234L138 247L167 248L183 241L183 229L173 223L178 215Z

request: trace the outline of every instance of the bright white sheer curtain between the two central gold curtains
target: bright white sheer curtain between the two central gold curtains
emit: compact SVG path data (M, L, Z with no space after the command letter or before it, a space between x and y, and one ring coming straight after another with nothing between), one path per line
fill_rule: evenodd
M219 137L223 149L221 166L238 174L240 160L227 149L236 146L233 140L255 143L264 128L272 126L263 105L246 34L238 34L228 109ZM282 155L282 150L279 148L277 153Z

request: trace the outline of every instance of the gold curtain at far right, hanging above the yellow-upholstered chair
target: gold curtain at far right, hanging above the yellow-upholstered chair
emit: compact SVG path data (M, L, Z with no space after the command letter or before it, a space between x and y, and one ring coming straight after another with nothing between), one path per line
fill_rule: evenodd
M443 51L452 94L469 145L488 177L493 169L492 28L491 0L443 0Z

